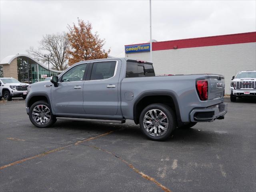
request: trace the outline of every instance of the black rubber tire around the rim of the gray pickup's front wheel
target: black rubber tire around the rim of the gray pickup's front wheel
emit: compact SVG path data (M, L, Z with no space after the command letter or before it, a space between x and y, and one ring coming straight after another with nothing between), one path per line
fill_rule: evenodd
M46 106L50 110L50 112L49 112L50 115L49 114L47 115L47 116L50 116L49 122L46 122L45 124L38 124L36 122L36 120L33 119L32 112L33 112L33 110L34 110L34 108L36 106ZM51 106L46 101L44 101L44 100L37 101L34 104L32 104L32 106L30 106L30 108L29 108L29 119L30 119L30 121L32 122L32 124L34 126L39 127L39 128L50 127L50 126L52 126L56 122L56 117L52 114Z

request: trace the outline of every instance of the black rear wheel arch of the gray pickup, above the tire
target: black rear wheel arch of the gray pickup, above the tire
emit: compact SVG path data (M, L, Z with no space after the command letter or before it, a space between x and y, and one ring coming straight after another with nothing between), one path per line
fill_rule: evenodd
M139 123L140 113L142 110L153 103L163 103L170 106L177 117L178 124L181 122L180 108L176 96L171 92L147 92L142 94L134 102L133 119L135 124Z

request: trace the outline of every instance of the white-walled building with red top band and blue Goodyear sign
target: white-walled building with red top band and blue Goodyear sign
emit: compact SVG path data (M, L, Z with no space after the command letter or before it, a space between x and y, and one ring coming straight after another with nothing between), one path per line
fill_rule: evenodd
M150 44L125 46L125 56L150 60ZM256 32L152 42L156 75L212 73L225 76L225 93L239 71L256 70Z

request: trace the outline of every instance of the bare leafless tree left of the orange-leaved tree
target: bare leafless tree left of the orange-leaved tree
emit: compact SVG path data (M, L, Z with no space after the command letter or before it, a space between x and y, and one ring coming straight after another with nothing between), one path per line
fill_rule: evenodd
M44 57L44 54L52 54L53 57L49 58L52 69L65 70L68 67L67 48L69 46L69 40L65 32L52 35L46 34L39 44L38 50L34 49L34 47L26 50L28 54L43 64L48 63L48 59Z

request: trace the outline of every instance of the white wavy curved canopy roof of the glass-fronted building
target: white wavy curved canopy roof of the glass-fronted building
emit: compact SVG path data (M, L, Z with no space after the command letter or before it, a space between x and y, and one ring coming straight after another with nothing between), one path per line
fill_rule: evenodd
M24 60L28 60L28 62L31 63L37 63L39 64L41 67L45 68L48 70L48 68L46 68L43 64L41 64L40 62L36 61L35 59L31 58L30 56L26 55L26 54L17 54L17 55L9 55L7 57L5 57L1 62L0 65L10 65L10 63L16 59L17 57L19 58L23 58ZM62 71L58 71L58 70L53 70L50 69L50 71L52 72L57 72L57 73L61 73Z

